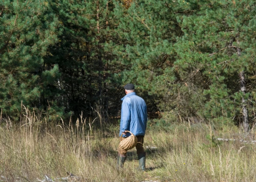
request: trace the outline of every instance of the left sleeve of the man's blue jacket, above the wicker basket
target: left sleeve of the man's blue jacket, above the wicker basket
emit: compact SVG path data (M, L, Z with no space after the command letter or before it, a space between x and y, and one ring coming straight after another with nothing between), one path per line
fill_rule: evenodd
M125 132L128 129L131 122L131 104L128 99L124 99L121 109L121 124L120 131Z

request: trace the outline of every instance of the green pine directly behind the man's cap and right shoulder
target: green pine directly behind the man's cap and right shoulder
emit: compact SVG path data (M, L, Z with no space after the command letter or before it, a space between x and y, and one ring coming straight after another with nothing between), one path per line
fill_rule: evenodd
M181 95L181 85L175 76L173 44L182 36L177 21L182 7L171 0L133 1L128 9L118 5L117 31L122 44L116 46L116 53L125 68L120 72L123 85L134 83L150 112L178 111L182 105L176 95Z

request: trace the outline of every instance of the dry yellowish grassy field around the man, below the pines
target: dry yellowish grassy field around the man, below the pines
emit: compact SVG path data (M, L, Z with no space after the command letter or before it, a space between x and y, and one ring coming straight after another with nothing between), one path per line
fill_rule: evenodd
M118 124L102 124L99 118L49 123L29 112L18 124L2 119L0 176L5 178L0 181L37 181L44 175L56 180L67 172L92 182L256 180L255 144L215 139L249 140L254 131L245 135L236 126L155 122L149 121L146 131L147 172L142 173L136 150L128 152L123 170L116 170Z

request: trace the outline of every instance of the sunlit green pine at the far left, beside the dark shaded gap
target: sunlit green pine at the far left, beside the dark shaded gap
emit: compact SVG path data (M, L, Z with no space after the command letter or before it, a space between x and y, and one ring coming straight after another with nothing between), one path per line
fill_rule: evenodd
M45 71L43 56L57 40L57 19L47 12L48 2L0 2L0 107L19 116L21 104L40 107L42 90L58 77L57 66Z

